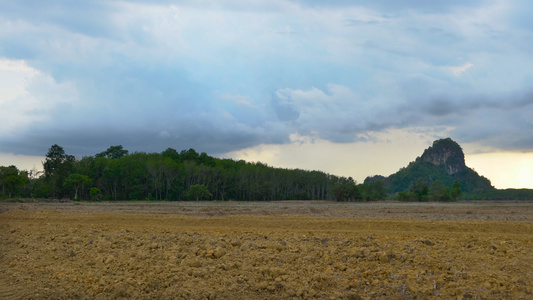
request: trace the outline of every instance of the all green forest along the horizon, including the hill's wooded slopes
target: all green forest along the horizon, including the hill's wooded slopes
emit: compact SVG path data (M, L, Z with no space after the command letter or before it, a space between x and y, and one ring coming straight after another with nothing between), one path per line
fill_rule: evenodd
M533 199L531 189L497 190L466 168L453 175L444 165L417 158L389 177L351 177L274 168L260 162L220 159L194 149L129 153L112 146L80 159L53 145L44 171L0 166L0 198L74 200L336 200L454 201Z

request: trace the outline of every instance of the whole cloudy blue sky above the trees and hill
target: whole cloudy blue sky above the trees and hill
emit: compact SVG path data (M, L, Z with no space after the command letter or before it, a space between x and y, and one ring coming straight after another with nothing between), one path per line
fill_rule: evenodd
M439 138L533 188L533 2L0 0L0 165L53 144L390 175Z

